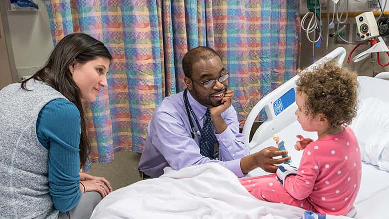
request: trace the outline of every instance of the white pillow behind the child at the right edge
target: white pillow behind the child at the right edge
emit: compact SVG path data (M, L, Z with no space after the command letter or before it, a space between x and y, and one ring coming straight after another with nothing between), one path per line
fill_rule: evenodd
M367 98L359 107L350 127L358 139L362 161L389 171L389 102Z

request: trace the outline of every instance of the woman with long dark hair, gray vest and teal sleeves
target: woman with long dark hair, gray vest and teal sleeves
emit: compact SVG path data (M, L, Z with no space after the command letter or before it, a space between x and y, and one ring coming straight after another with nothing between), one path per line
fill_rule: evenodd
M102 42L69 34L31 78L0 90L1 217L89 218L112 191L79 172L89 149L82 102L107 88L111 60Z

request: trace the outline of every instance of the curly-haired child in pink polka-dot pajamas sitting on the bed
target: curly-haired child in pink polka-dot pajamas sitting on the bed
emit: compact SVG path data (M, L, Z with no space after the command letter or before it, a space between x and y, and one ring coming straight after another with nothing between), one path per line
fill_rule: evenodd
M357 111L357 75L334 62L300 73L295 114L305 131L318 140L297 137L303 150L298 169L281 165L277 174L243 178L254 197L322 215L347 215L361 182L361 154L349 124Z

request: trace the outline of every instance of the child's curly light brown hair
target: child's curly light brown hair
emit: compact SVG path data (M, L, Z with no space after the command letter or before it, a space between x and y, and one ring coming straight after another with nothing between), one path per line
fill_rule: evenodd
M323 113L330 126L349 125L357 115L357 74L339 67L335 61L298 71L297 92L307 94L306 114Z

